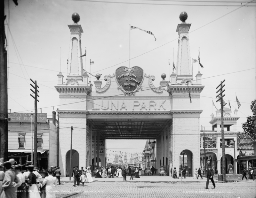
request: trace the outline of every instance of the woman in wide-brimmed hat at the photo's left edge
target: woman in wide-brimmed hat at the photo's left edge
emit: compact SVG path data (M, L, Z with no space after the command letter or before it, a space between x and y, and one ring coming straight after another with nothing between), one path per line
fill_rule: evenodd
M2 184L2 191L0 198L16 198L17 184L15 182L16 173L12 170L12 165L15 163L14 159L10 159L1 164L4 167L4 180Z

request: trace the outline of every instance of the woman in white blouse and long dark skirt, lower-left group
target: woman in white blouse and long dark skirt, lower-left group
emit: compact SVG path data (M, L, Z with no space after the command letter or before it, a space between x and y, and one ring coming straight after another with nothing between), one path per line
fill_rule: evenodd
M14 171L17 174L17 177L20 179L21 182L17 183L18 191L17 191L17 197L18 198L26 198L27 197L27 186L26 186L26 179L24 175L22 174L22 166L21 164L18 164L16 166L12 166Z

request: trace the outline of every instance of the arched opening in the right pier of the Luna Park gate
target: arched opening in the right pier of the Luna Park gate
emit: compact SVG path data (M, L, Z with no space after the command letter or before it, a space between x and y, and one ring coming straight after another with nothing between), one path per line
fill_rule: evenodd
M183 150L180 153L180 169L186 168L186 176L188 176L188 168L191 168L192 176L194 172L193 168L193 153L190 150Z

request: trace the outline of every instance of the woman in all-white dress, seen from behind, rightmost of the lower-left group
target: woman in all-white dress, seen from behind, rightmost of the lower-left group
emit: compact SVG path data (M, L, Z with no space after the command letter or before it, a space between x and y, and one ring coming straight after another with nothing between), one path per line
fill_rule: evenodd
M57 186L57 179L56 177L52 176L52 169L49 169L48 171L48 177L44 178L44 181L41 184L41 187L45 186L46 191L46 198L55 198L55 187Z

